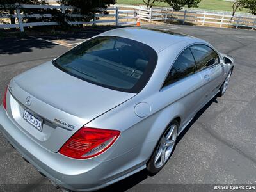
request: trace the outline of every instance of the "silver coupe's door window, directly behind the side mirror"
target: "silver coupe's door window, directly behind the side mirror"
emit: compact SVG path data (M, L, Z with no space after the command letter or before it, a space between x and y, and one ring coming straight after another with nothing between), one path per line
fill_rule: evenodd
M198 70L204 70L204 68L220 62L218 54L207 45L193 45L190 49L195 57Z

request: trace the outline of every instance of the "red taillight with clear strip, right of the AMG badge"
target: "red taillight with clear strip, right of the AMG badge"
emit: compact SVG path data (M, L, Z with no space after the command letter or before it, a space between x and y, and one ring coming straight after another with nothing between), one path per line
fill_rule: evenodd
M64 156L88 159L106 151L116 141L120 131L82 127L59 150Z

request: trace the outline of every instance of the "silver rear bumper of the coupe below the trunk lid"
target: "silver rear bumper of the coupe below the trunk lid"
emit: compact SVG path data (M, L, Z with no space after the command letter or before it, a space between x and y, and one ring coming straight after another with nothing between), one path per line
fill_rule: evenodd
M22 132L19 125L10 120L3 106L0 106L0 131L36 170L57 186L72 191L94 191L104 188L145 168L143 164L116 169L116 164L120 164L122 157L111 161L77 160L51 152Z

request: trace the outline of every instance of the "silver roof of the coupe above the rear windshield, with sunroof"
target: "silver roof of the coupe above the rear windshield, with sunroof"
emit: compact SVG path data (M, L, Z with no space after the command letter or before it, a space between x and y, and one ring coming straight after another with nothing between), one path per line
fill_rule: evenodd
M189 44L194 42L204 42L192 36L183 35L180 33L173 33L170 31L161 31L159 29L148 29L139 27L118 28L101 33L99 36L119 36L129 38L147 44L156 52L160 52L170 45L179 42L188 41Z

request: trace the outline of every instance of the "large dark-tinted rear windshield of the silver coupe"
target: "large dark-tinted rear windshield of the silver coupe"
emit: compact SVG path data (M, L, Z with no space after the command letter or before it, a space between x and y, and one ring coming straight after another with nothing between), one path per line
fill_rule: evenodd
M116 36L87 40L52 63L84 81L138 93L156 67L157 54L148 45Z

